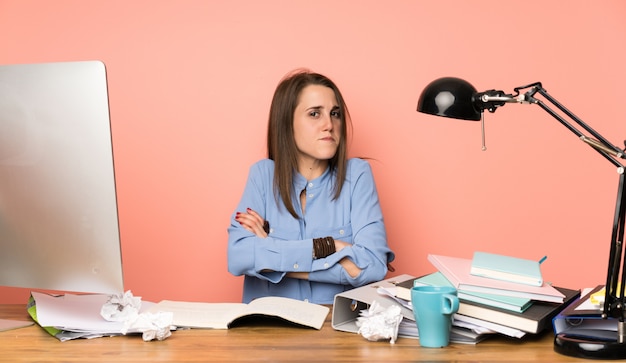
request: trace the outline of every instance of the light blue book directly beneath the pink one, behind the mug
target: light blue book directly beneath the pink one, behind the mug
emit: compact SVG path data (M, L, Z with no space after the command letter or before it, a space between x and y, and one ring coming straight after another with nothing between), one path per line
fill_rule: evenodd
M419 277L413 281L413 286L420 285L454 287L454 285L439 271ZM526 309L528 309L533 303L531 299L523 297L504 296L473 291L457 290L457 295L461 301L470 301L516 313L526 311Z

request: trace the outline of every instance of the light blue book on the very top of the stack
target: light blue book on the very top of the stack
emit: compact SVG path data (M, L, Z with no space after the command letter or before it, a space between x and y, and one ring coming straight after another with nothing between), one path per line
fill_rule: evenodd
M474 252L470 273L474 276L541 286L540 262L487 252Z

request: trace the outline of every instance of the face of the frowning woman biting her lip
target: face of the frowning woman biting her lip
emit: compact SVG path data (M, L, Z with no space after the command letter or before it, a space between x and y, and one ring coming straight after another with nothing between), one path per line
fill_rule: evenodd
M293 114L293 133L298 165L329 160L341 139L341 118L331 88L309 85L302 89Z

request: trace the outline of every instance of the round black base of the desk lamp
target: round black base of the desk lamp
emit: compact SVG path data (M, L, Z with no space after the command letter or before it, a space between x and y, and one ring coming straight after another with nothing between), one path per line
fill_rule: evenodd
M626 343L615 339L594 339L568 334L557 334L554 351L563 355L587 359L624 359Z

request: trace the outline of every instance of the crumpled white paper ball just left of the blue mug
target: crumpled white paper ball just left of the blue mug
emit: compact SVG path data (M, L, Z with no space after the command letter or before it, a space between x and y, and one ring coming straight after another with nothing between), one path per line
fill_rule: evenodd
M384 308L376 300L369 309L361 310L356 325L358 333L369 341L389 339L394 344L398 339L398 329L402 321L402 309L398 305Z

